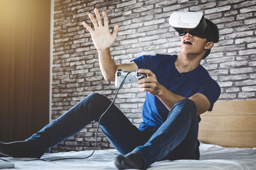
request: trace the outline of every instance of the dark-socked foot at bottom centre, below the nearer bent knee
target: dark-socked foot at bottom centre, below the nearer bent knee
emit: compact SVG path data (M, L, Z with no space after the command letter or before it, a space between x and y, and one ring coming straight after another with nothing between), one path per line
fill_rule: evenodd
M115 157L115 166L117 169L143 169L144 159L140 153L128 153L127 155L118 155Z

